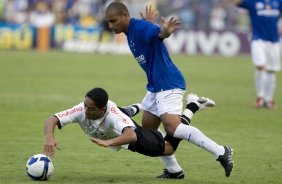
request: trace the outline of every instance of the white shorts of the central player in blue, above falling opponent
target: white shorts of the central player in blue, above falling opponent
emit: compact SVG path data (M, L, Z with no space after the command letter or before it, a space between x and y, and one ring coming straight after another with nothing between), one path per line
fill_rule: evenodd
M182 114L185 90L172 89L157 93L147 92L142 101L142 108L158 117L164 113Z

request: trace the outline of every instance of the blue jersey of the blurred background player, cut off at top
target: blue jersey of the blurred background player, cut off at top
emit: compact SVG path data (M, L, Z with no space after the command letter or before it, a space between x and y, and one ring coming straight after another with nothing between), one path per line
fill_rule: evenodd
M279 41L278 19L282 0L243 0L238 6L249 10L253 40Z

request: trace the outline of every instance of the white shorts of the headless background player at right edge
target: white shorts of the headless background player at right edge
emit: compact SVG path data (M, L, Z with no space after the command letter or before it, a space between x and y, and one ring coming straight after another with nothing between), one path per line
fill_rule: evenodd
M263 40L253 40L251 54L255 66L264 66L266 70L280 71L281 56L280 43L272 43Z

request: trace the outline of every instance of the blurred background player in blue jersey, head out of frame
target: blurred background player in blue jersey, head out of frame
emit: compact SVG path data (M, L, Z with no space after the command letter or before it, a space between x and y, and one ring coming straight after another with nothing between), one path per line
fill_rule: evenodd
M278 20L282 0L227 0L249 11L252 26L251 55L255 70L256 107L276 109L273 100L276 74L281 70Z

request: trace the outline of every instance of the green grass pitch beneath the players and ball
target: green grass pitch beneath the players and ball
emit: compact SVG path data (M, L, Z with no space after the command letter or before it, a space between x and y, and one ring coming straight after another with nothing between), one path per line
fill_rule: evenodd
M48 183L246 183L282 181L282 75L277 76L277 110L255 109L253 66L249 56L174 56L194 92L216 107L193 117L192 125L220 144L234 148L235 169L226 178L215 158L183 141L176 152L184 180L154 177L159 158L130 151L113 152L91 143L77 125L56 130L61 150L53 158ZM83 100L95 87L105 88L120 106L140 102L145 74L132 56L52 51L0 51L0 183L34 183L27 159L43 148L45 119ZM135 117L138 122L141 115ZM37 183L37 182L36 182Z

